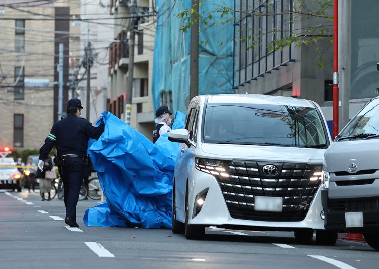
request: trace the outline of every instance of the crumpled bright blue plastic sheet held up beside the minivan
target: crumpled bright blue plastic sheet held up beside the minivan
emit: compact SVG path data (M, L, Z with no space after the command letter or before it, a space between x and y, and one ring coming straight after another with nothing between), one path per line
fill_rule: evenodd
M173 129L183 128L176 112ZM88 153L98 172L106 202L85 212L86 226L171 228L172 182L179 143L167 134L153 144L109 112L101 137L90 140Z

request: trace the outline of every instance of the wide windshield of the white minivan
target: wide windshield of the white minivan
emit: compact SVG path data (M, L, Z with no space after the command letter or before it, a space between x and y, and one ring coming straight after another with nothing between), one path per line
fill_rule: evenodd
M205 143L326 148L316 109L287 105L208 104Z

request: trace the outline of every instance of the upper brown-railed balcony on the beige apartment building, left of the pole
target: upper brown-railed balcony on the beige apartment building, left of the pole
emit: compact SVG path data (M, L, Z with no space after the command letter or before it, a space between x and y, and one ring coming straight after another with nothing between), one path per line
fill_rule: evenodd
M109 74L112 74L117 68L127 67L129 64L127 31L121 31L115 40L117 41L109 45Z

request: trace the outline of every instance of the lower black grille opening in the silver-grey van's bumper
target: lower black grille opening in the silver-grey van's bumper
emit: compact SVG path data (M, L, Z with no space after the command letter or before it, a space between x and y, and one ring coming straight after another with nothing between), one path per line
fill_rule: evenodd
M379 210L379 199L329 200L330 212L361 212Z

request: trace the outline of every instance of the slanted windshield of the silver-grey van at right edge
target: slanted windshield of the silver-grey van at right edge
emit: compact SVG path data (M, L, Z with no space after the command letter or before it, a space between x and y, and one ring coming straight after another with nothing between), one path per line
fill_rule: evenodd
M361 135L360 134L367 134ZM346 126L338 139L350 136L356 138L370 138L379 135L379 100L374 99L367 104Z

